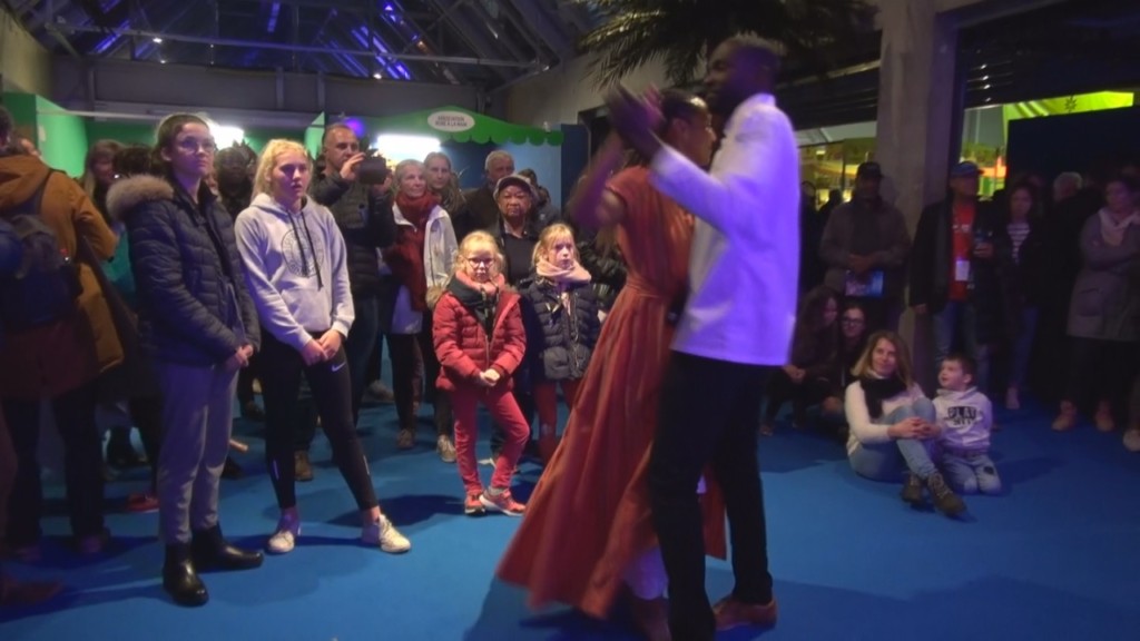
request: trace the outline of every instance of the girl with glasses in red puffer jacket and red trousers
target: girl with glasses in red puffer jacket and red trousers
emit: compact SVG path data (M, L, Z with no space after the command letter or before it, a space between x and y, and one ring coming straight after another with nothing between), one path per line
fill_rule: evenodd
M435 306L432 326L442 366L437 384L451 395L455 449L466 488L463 511L471 516L498 510L518 517L526 511L511 496L511 476L530 437L530 425L511 395L511 381L522 363L527 339L519 294L506 289L502 269L503 255L490 234L473 232L463 238L455 275ZM480 401L507 438L487 489L475 462L475 405Z

